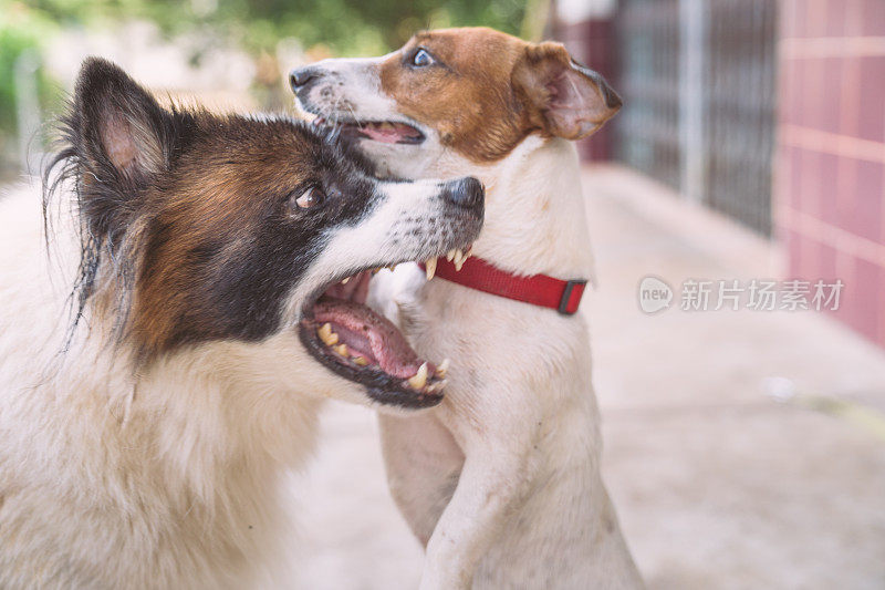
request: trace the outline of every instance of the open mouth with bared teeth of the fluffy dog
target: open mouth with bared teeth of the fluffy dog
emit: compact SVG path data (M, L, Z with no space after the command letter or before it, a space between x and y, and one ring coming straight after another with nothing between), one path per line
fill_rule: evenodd
M464 262L464 250L448 257ZM433 278L436 258L425 262ZM403 407L429 407L442 400L448 361L420 359L403 333L366 303L378 269L358 271L320 291L305 306L299 337L308 351L339 375L365 385L375 401Z

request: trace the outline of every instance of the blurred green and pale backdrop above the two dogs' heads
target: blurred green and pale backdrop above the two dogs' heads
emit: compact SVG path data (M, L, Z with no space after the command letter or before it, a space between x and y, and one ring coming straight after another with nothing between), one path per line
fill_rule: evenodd
M0 0L2 169L15 170L24 144L39 153L40 113L58 111L90 54L173 97L281 110L294 65L386 53L424 28L481 23L520 34L544 27L548 1Z

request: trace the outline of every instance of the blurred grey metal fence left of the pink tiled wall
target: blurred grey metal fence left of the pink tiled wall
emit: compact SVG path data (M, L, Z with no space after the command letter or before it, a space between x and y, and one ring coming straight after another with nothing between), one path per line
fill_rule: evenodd
M616 156L771 231L777 0L622 0Z

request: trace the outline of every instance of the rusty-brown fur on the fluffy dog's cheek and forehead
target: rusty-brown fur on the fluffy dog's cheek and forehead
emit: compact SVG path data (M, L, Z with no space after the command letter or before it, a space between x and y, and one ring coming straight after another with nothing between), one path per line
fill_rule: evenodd
M215 133L208 128L212 123ZM231 125L240 127L237 144L229 130L219 133ZM304 183L313 168L300 156L310 146L295 133L211 116L200 126L207 133L178 163L173 183L146 195L156 214L142 236L145 253L132 321L147 355L196 335L225 335L226 310L202 287L244 253L261 219L273 215L280 197Z

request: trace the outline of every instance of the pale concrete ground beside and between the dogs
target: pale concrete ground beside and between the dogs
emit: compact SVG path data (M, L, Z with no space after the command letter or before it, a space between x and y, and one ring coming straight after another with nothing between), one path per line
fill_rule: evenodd
M768 242L617 167L584 178L598 288L583 306L604 476L657 589L885 588L885 354L813 311L637 304L648 275L778 276ZM415 588L372 413L330 405L296 486L293 588Z

